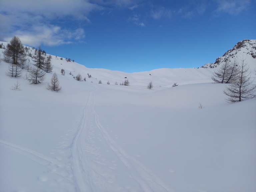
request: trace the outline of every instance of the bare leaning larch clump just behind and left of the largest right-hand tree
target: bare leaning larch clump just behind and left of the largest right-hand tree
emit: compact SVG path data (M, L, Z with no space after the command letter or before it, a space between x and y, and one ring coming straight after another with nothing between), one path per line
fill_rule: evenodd
M236 60L233 63L230 63L225 59L225 62L220 66L220 69L213 73L212 80L216 83L232 83L236 78L236 66Z

